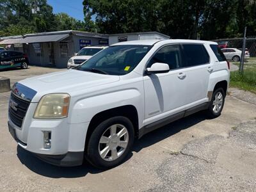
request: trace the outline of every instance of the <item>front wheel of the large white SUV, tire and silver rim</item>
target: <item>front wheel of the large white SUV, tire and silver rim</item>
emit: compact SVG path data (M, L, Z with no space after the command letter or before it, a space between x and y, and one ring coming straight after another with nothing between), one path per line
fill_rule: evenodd
M97 168L112 168L124 161L133 142L132 122L124 116L115 116L104 120L94 129L85 158Z

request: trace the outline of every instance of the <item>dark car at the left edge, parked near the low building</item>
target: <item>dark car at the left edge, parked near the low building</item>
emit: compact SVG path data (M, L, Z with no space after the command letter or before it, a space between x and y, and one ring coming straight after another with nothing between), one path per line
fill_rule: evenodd
M28 68L28 56L19 51L0 51L0 70L2 68Z

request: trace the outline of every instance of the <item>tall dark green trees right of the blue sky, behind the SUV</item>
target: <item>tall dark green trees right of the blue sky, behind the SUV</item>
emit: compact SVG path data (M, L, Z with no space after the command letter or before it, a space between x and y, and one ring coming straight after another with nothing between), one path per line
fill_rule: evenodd
M86 23L100 33L159 31L205 40L256 33L255 0L84 0Z

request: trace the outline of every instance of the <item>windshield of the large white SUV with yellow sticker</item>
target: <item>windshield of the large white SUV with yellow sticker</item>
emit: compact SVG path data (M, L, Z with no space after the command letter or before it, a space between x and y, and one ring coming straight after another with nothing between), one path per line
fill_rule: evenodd
M76 69L122 76L131 72L151 47L148 45L116 45L108 47Z

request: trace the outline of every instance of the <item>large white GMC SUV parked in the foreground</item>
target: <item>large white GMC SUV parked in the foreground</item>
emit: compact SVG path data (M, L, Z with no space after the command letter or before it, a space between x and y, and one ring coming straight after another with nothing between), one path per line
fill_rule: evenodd
M48 163L111 168L147 132L200 110L219 116L228 83L215 42L120 42L76 69L16 83L9 131Z

